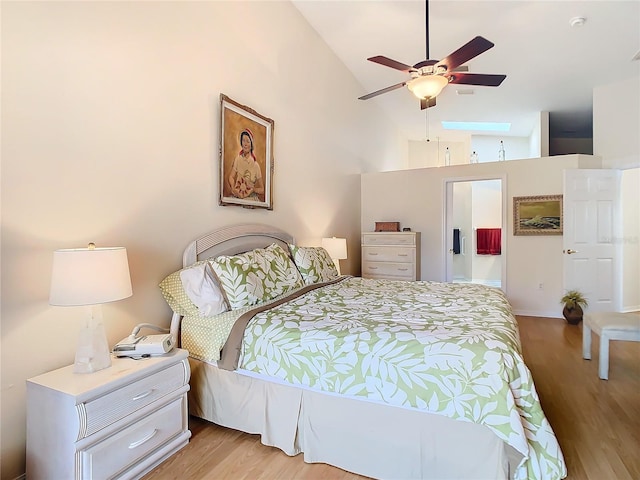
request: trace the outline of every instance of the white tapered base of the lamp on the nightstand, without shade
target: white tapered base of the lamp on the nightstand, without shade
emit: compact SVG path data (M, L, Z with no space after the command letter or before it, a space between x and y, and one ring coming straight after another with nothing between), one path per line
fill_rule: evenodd
M99 305L92 308L90 319L78 338L74 373L93 373L111 366L111 352L102 322L96 318ZM97 315L96 315L97 314Z

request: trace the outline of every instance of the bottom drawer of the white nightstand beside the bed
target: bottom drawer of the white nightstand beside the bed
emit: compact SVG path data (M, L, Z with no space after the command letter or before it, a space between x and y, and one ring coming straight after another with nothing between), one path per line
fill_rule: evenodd
M117 477L135 462L180 434L185 429L182 424L184 401L184 397L180 397L144 420L78 452L76 455L80 457L82 478Z

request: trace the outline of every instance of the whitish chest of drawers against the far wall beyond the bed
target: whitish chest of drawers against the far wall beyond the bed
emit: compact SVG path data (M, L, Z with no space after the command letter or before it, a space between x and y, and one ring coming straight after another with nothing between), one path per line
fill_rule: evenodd
M363 233L362 277L420 280L420 232Z

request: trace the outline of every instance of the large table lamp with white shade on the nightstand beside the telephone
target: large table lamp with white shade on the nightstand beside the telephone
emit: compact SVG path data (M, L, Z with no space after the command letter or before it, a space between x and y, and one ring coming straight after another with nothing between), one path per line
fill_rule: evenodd
M87 248L53 252L49 304L89 307L78 339L74 373L92 373L111 366L102 304L132 293L126 248L96 248L90 243Z

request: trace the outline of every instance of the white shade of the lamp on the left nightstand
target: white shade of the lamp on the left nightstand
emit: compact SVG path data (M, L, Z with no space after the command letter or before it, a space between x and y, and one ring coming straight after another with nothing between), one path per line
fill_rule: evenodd
M53 252L49 303L95 305L130 297L127 249L74 248Z

